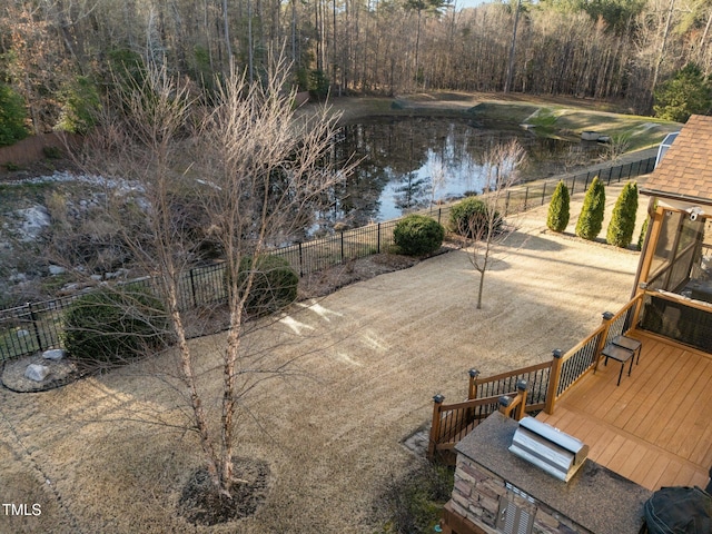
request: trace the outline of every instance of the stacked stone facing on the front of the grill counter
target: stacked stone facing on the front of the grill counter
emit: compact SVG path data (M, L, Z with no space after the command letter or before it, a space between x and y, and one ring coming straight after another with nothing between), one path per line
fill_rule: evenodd
M556 511L546 506L516 486L507 484L503 478L482 467L462 454L457 455L455 486L449 505L453 512L479 526L484 532L496 530L500 502L514 502L515 506L530 515L534 515L532 532L536 534L590 533L591 531L562 517Z

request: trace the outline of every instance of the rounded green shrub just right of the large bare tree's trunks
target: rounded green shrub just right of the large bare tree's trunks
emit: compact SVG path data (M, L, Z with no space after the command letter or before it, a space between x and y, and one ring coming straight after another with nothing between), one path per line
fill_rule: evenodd
M238 288L245 290L253 265L251 256L240 260ZM278 256L260 256L255 265L255 278L245 307L250 315L278 312L297 299L299 277L289 261Z

